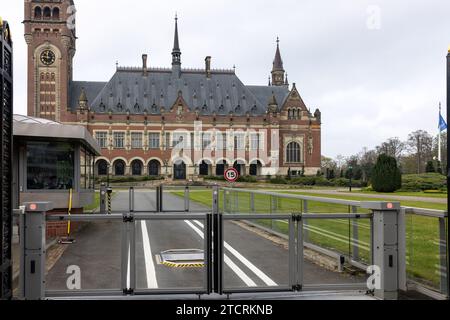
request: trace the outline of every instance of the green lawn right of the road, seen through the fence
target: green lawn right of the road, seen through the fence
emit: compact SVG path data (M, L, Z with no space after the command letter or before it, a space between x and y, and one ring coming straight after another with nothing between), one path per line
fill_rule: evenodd
M284 191L289 194L302 194L301 191ZM184 196L184 192L173 192ZM363 195L341 196L305 193L307 196L322 198L345 199L355 201L377 201ZM212 193L209 190L191 191L191 201L210 207ZM220 193L220 210L223 211L223 191ZM386 197L386 201L396 201ZM398 201L398 200L397 200ZM227 210L229 213L259 213L259 214L291 214L303 211L303 201L298 199L271 198L267 195L256 194L254 198L254 210L251 208L249 193L233 193L227 196ZM420 207L427 209L447 210L445 204L429 203L425 201L401 201L402 206ZM351 208L347 205L336 205L318 201L308 201L308 212L313 213L348 213ZM367 210L358 208L358 213L368 213ZM287 234L288 224L280 220L258 221L264 227ZM353 224L357 223L358 237L353 234ZM349 221L344 219L310 220L306 223L305 239L330 250L338 251L353 256L353 245L359 247L360 259L370 262L370 221ZM436 273L439 266L439 220L437 218L422 217L416 215L407 216L407 272L410 278L414 278L424 284L439 289L440 277ZM354 239L349 241L349 239Z

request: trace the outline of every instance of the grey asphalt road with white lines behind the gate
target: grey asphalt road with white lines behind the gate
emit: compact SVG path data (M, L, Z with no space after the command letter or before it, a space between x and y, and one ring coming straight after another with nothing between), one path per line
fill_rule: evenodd
M164 194L166 210L183 210L184 199ZM117 192L112 201L113 211L127 211L128 192ZM154 211L154 191L135 191L135 210ZM194 211L209 208L190 204ZM76 243L69 245L50 270L46 281L48 290L66 290L69 266L81 272L81 289L120 289L121 287L121 226L122 222L89 223L75 235ZM183 289L202 288L205 268L173 268L161 264L158 255L166 250L204 249L204 221L136 221L136 288ZM233 222L224 225L224 285L225 288L287 286L289 284L288 250ZM126 257L129 262L129 258ZM129 270L128 270L129 272ZM311 262L304 263L307 284L338 284L364 282L353 277L328 271Z

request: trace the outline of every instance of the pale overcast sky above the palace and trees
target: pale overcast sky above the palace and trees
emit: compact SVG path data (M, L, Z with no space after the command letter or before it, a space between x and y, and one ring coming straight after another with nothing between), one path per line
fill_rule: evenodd
M323 114L322 153L374 148L417 129L437 134L446 102L448 0L75 0L74 79L108 81L115 63L169 67L178 12L184 67L236 65L266 85L280 37L284 67ZM26 113L23 1L0 0L14 40L14 112Z

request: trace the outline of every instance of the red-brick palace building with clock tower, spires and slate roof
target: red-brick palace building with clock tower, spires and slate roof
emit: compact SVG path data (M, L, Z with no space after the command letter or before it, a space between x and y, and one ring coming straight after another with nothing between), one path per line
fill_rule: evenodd
M25 0L28 115L85 126L102 148L97 175L192 179L223 175L315 175L321 113L288 83L279 41L267 86L235 70L182 68L178 20L172 66L116 66L108 82L73 81L73 0ZM71 24L72 23L72 24Z

